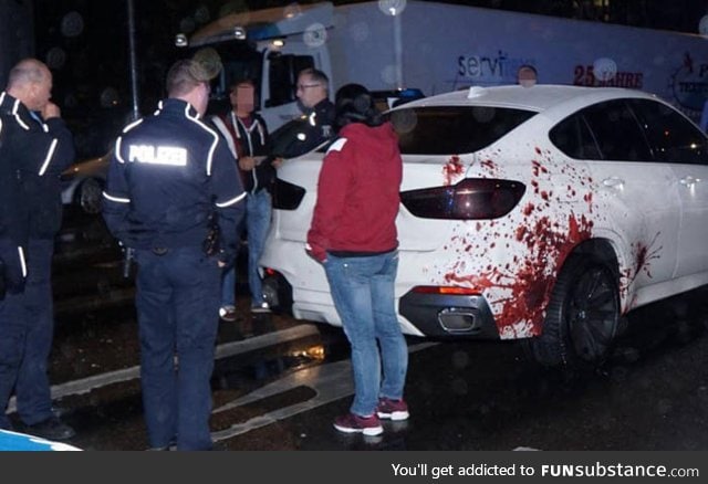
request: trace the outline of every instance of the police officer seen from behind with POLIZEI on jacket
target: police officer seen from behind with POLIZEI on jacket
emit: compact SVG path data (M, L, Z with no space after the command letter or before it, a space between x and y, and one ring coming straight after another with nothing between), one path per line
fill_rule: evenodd
M104 191L111 232L135 251L140 385L153 449L210 450L221 267L236 255L246 197L226 143L202 122L209 75L167 73L168 98L117 138ZM205 246L214 221L220 250Z

